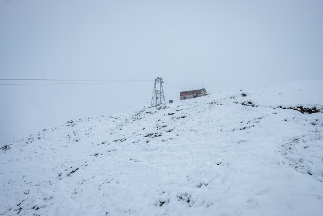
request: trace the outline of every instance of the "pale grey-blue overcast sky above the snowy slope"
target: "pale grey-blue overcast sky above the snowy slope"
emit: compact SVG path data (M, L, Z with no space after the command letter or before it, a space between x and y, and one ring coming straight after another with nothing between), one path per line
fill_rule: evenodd
M157 76L209 93L323 79L323 0L0 1L1 79ZM0 146L150 105L153 87L0 85ZM179 91L164 84L166 100Z

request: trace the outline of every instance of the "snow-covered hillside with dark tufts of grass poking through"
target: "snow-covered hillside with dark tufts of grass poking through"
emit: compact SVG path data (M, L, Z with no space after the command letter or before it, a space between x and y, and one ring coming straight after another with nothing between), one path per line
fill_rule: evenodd
M0 215L322 216L323 80L72 120L1 146Z

